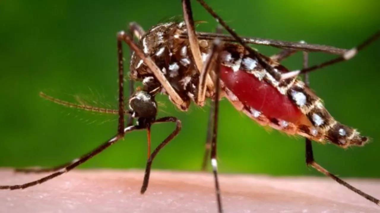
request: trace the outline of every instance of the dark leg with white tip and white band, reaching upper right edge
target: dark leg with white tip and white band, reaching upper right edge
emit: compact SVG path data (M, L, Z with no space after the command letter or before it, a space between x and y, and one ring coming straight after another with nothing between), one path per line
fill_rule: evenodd
M380 37L380 31L377 31L375 34L373 34L372 36L370 36L368 39L366 39L363 43L359 44L357 47L354 47L350 50L348 50L347 52L345 52L342 56L339 56L337 58L334 58L332 60L329 60L329 61L326 61L326 62L323 62L321 64L317 64L317 65L314 65L314 66L311 66L311 67L307 67L307 68L304 68L304 69L301 69L301 70L294 70L292 72L289 72L287 74L283 74L281 76L281 79L286 79L286 78L291 78L291 77L294 77L296 75L299 75L299 74L305 74L307 72L311 72L313 70L317 70L317 69L320 69L322 67L326 67L326 66L329 66L329 65L332 65L332 64L336 64L336 63L339 63L341 61L347 61L347 60L350 60L351 58L353 58L360 50L362 50L364 47L367 47L370 43L374 42L375 40L377 40L378 38Z

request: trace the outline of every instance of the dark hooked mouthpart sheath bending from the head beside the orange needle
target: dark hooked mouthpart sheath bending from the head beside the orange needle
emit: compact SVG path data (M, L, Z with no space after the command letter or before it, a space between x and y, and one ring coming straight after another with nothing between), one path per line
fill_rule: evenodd
M149 176L150 176L150 168L152 167L152 161L160 152L160 150L169 143L176 135L178 135L179 131L182 128L181 121L177 119L176 117L162 117L160 119L157 119L154 121L154 123L164 123L164 122L175 122L176 123L176 129L168 136L165 138L160 145L157 146L157 148L152 152L152 154L149 156L148 161L146 163L146 168L145 168L145 174L144 174L144 181L142 182L141 186L141 194L144 194L144 192L147 190L148 183L149 183Z

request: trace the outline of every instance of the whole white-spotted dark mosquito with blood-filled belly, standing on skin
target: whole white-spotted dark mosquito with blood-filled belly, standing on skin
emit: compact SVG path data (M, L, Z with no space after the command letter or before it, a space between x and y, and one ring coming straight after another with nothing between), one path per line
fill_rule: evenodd
M380 37L380 31L352 49L287 42L260 38L242 38L232 30L203 0L197 0L225 28L230 35L221 33L197 33L194 27L189 0L182 0L184 22L161 23L144 31L137 23L130 23L130 32L117 34L119 108L111 110L66 102L40 93L40 96L67 107L101 113L118 114L117 134L92 152L69 163L46 169L18 169L20 172L54 172L33 182L21 185L0 186L0 189L24 189L34 186L84 163L107 147L122 139L126 133L147 130L148 154L141 193L147 190L150 169L158 152L168 144L182 128L176 117L156 118L158 93L168 95L169 100L182 111L187 111L191 102L204 106L207 98L213 100L206 140L203 168L211 159L214 175L218 212L223 212L222 196L217 172L218 105L222 97L254 121L305 138L306 164L331 177L360 196L380 205L380 201L351 186L320 166L313 157L311 141L329 141L339 147L363 146L368 138L351 127L336 121L325 109L321 99L309 88L307 73L331 64L347 61L360 50ZM138 42L135 42L135 38ZM131 49L129 110L125 110L123 94L122 43ZM283 49L276 55L264 56L249 44L269 45ZM304 55L303 68L290 71L280 61L295 52ZM308 66L308 52L325 52L338 55L330 61ZM304 81L299 75L304 75ZM142 81L143 87L134 91L134 81ZM246 89L250 88L250 89ZM263 95L265 94L265 95ZM266 100L267 99L267 100ZM270 102L268 101L270 99ZM128 116L127 122L125 116ZM136 124L133 121L136 119ZM176 124L173 132L150 151L150 127L163 122ZM125 127L127 123L127 127Z

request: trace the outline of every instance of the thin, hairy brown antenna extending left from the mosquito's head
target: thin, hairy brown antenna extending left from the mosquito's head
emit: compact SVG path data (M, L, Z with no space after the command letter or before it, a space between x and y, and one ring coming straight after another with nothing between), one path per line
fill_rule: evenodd
M97 112L97 113L106 113L106 114L119 114L118 110L113 110L113 109L107 109L107 108L99 108L99 107L93 107L89 105L81 105L81 104L76 104L76 103L71 103L67 102L65 100L60 100L51 96L46 95L43 92L40 92L40 96L46 100L49 100L54 103L58 103L59 105L65 106L65 107L70 107L70 108L77 108L81 110L86 110L86 111L92 111L92 112ZM128 111L124 111L124 113L128 114Z

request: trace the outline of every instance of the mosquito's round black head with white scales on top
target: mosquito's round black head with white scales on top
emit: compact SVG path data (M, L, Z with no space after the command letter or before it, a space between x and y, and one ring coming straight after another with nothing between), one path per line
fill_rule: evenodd
M157 114L154 96L145 91L138 91L129 99L129 108L133 111L133 117L154 119Z

